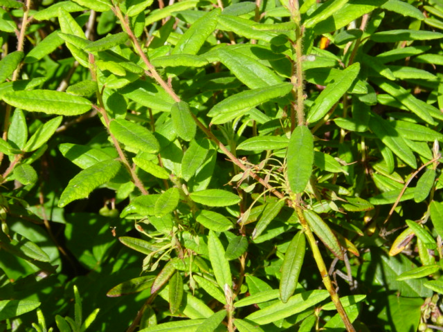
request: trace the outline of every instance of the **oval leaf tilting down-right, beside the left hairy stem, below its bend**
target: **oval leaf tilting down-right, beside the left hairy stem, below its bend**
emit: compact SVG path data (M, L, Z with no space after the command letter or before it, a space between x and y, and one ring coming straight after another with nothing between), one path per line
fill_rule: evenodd
M109 124L109 131L124 145L148 154L159 152L159 142L147 128L140 124L125 119L116 119Z

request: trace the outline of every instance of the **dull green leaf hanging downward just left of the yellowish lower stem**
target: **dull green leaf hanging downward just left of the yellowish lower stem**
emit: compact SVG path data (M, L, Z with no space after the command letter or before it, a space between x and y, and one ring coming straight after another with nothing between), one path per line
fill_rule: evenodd
M296 290L298 276L300 275L303 259L305 258L305 251L305 234L300 231L293 237L284 254L282 277L280 278L280 299L283 303L288 302Z

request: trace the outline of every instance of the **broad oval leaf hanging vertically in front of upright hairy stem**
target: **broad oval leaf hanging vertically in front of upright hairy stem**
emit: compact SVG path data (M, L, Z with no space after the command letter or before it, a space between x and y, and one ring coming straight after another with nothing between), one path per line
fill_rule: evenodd
M301 193L311 177L314 163L314 137L308 127L298 126L289 140L287 152L287 176L289 187Z

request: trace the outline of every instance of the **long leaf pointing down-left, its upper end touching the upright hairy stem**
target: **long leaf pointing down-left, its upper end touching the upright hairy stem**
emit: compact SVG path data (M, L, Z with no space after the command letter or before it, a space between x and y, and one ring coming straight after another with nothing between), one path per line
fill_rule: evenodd
M230 95L216 104L215 107L210 109L208 116L213 117L213 124L222 124L242 115L263 102L287 95L292 88L293 85L291 83L283 83L242 91L235 95Z

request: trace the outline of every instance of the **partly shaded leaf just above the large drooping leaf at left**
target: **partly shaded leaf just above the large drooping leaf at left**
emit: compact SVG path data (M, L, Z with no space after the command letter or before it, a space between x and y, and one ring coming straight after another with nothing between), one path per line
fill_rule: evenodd
M85 145L63 143L59 147L60 152L65 158L71 160L78 167L85 169L100 163L100 161L112 159L100 149L93 149Z

